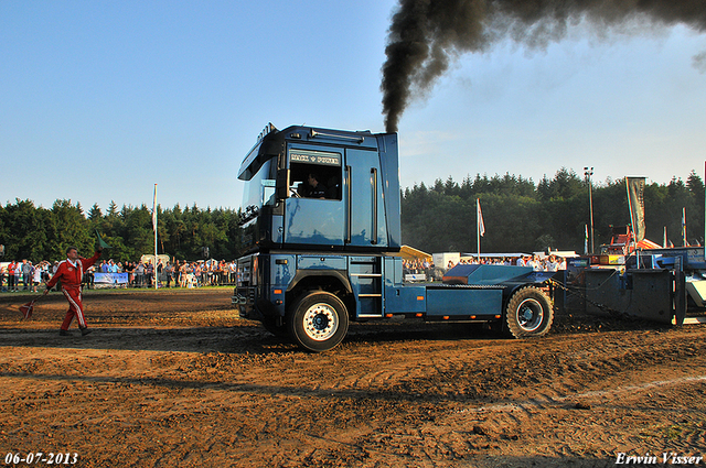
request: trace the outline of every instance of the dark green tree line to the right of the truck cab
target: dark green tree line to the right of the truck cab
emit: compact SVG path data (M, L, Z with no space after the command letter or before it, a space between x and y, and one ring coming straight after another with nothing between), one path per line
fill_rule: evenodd
M584 252L590 227L589 182L566 167L535 184L515 175L449 177L403 193L403 240L426 252L477 252L477 209L480 199L485 235L481 252L575 250ZM625 179L591 183L593 243L610 242L611 225L630 224ZM686 208L689 243L704 244L704 182L692 171L686 182L645 184L645 237L662 244L664 227L674 246L682 246L682 208Z

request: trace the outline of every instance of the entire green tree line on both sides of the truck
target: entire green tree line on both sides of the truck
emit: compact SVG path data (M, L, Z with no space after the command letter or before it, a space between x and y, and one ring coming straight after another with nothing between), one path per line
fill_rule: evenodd
M595 246L610 241L610 226L630 224L625 181L592 183ZM485 235L481 252L575 250L584 252L589 224L588 181L563 167L553 178L535 184L515 175L449 177L434 185L415 184L402 192L403 242L426 252L475 252L475 199L480 199ZM704 182L694 172L686 182L648 184L644 192L646 238L662 243L664 227L675 246L682 244L682 208L686 208L691 243L704 244ZM105 213L94 204L56 200L51 208L17 199L0 205L0 244L4 260L60 260L66 247L90 253L95 231L110 244L115 261L133 261L154 251L152 210L113 202ZM208 247L215 259L232 260L240 249L240 213L229 208L158 206L158 252L179 260L203 258Z

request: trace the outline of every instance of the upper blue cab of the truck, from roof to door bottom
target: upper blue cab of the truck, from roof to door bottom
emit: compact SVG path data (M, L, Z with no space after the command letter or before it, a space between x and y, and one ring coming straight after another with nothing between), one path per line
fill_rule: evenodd
M396 134L270 124L238 171L246 182L243 244L398 251L399 217L387 216L399 213L396 173Z

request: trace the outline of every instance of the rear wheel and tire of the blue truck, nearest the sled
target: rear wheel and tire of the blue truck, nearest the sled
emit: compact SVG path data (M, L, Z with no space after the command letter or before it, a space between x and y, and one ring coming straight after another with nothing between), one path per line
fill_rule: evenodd
M537 287L523 287L513 293L505 309L507 331L515 338L544 336L552 328L552 301Z

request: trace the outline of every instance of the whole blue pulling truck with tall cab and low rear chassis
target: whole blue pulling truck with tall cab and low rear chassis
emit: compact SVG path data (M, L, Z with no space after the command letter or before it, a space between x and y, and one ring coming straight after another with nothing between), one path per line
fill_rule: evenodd
M238 178L243 250L232 302L277 336L320 352L352 320L490 323L516 338L549 331L552 273L459 264L443 282L403 281L396 133L270 123Z

